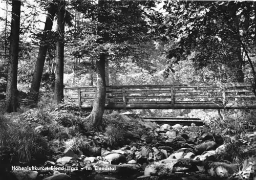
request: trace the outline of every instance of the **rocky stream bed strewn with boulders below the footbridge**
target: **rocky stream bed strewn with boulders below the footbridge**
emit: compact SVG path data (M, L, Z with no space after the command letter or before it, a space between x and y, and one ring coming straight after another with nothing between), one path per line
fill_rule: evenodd
M43 127L37 129L40 133L44 131ZM92 146L83 155L66 149L56 162L47 161L40 167L26 164L6 167L13 169L2 179L232 179L239 169L237 164L229 162L230 154L224 143L227 137L204 129L205 126L163 124L147 128L141 136L134 134L133 141L123 147ZM104 137L95 132L88 138ZM221 162L220 156L225 157Z

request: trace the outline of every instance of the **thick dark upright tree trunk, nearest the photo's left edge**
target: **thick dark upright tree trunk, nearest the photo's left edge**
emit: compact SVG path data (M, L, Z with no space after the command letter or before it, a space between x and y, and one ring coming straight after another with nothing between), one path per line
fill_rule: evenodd
M19 20L20 1L12 1L12 21L10 35L10 51L8 63L8 79L6 87L6 111L16 112L18 108L17 100L17 73L18 73L18 44L19 44Z

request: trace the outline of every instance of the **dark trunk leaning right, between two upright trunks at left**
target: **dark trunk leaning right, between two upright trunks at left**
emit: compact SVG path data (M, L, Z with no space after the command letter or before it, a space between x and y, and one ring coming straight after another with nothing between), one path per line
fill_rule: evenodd
M56 13L56 7L54 6L54 4L50 4L50 7L48 9L48 16L46 18L46 23L45 23L45 29L44 29L45 38L41 40L41 45L39 47L39 52L36 59L33 80L32 80L30 92L28 95L28 104L31 107L35 106L38 102L42 72L44 71L46 54L49 48L49 43L44 41L49 40L49 38L51 37L51 30L52 30L55 13Z

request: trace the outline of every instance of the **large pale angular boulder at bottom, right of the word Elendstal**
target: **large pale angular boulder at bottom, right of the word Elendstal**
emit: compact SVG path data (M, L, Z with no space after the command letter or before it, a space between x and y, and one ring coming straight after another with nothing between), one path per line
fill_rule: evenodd
M177 159L165 159L153 162L146 166L144 170L145 176L168 176L173 173L173 166L178 162Z

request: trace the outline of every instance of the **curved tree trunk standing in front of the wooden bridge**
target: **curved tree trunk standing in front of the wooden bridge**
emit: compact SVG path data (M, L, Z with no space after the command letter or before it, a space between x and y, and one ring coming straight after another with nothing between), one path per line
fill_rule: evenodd
M96 61L97 90L93 109L91 114L86 118L90 119L93 127L102 131L102 116L105 109L106 81L105 81L105 54L100 54L99 60Z

